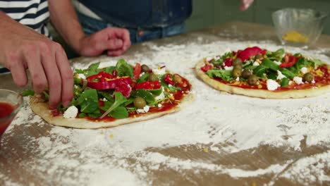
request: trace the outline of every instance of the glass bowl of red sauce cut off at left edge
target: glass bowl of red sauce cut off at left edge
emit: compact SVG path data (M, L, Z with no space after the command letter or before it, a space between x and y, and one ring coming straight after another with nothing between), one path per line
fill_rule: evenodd
M0 138L23 106L23 97L17 92L0 89Z

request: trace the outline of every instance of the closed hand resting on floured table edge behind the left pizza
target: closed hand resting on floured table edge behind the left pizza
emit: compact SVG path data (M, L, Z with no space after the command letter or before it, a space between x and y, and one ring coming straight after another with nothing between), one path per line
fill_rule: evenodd
M128 30L108 27L93 35L82 37L80 54L82 56L98 56L106 51L109 56L119 56L130 47Z

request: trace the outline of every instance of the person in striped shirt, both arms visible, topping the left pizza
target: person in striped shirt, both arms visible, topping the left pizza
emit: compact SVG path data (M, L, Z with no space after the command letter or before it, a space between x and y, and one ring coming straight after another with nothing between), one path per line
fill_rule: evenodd
M130 36L117 27L85 35L70 0L0 0L0 63L18 86L27 85L28 68L35 92L48 86L49 108L56 109L73 98L73 73L62 46L49 38L48 20L82 56L121 55Z

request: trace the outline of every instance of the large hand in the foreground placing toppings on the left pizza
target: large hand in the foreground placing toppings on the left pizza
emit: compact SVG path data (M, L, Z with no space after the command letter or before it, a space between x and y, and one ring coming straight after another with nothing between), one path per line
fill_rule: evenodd
M73 97L73 73L60 44L0 12L0 63L11 70L16 85L27 85L26 69L32 87L41 93L49 87L49 107L62 101L68 106Z

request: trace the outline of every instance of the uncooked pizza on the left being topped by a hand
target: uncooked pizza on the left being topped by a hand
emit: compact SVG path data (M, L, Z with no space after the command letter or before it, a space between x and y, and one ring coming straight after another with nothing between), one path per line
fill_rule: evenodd
M53 125L107 128L158 118L193 101L190 82L165 66L132 66L123 59L105 68L93 63L75 69L74 81L71 106L49 110L46 90L32 97L32 111Z

